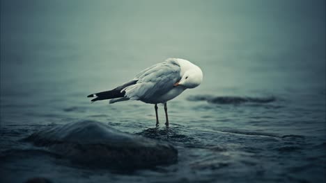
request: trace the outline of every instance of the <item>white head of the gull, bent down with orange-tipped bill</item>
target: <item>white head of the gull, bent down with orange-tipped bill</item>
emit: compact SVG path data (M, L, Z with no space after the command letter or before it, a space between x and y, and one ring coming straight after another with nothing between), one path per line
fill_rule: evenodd
M181 85L186 88L194 88L201 85L201 81L203 80L203 72L199 67L193 67L183 74L183 77L179 82L176 82L174 86Z

